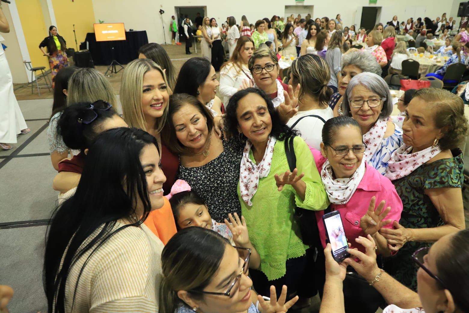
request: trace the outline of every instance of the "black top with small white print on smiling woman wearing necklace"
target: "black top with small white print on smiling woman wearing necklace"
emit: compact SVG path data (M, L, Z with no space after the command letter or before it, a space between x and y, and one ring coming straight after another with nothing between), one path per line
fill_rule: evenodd
M217 222L222 223L228 213L241 216L237 188L242 150L246 142L237 138L223 141L223 152L205 165L186 168L179 165L176 179L185 180L192 190L205 200L208 211Z

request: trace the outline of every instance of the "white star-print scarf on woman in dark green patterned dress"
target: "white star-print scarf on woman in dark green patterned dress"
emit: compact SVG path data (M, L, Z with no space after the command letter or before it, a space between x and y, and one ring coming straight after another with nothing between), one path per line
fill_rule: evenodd
M441 152L438 145L435 147L429 146L428 148L416 153L411 153L412 149L412 146L404 144L394 151L389 159L384 176L390 180L396 180L408 176L419 166L425 164L425 162L428 162L434 158L435 155Z

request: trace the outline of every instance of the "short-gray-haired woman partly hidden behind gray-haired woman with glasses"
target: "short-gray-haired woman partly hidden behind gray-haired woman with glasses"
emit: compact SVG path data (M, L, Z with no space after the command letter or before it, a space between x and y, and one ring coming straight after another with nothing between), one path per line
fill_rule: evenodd
M362 72L375 73L381 76L381 67L376 62L375 57L370 53L363 51L350 50L342 55L342 66L338 77L338 92L334 93L329 100L329 107L334 112L334 116L342 115L342 100L345 90L350 80L357 74Z

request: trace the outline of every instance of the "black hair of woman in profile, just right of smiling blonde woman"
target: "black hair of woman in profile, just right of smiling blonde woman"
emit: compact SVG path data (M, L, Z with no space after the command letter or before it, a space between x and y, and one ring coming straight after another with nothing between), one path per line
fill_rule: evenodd
M191 58L179 70L174 93L187 93L197 97L197 88L205 83L212 64L205 58Z

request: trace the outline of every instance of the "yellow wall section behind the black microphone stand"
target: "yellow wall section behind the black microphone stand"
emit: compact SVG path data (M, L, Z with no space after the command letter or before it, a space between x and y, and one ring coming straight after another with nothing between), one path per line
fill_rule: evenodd
M85 40L86 33L94 32L94 11L92 0L52 0L55 21L59 34L67 41L68 48L74 48L75 37L73 24L75 24L76 42L80 49L80 42Z

